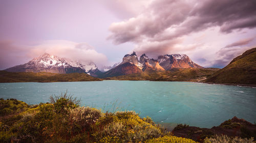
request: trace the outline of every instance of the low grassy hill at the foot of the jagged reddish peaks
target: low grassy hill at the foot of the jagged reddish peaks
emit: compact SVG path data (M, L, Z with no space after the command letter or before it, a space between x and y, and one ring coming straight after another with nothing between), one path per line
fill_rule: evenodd
M105 80L198 81L218 71L218 68L186 68L172 71L144 71L142 73L103 78Z

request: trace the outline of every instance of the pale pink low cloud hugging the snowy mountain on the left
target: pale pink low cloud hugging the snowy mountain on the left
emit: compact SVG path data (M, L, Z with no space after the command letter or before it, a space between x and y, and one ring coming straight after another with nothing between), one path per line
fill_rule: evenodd
M1 46L1 69L6 69L18 64L24 64L43 53L50 53L79 60L82 63L94 62L101 67L108 62L108 58L103 53L98 53L94 47L87 43L76 43L65 40L42 41L37 45L14 45L12 42L0 42ZM21 61L21 62L20 62Z

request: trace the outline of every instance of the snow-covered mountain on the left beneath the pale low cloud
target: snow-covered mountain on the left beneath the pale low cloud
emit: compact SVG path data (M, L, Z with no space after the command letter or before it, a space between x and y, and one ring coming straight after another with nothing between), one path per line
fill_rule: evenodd
M101 72L93 62L82 64L58 56L44 53L26 64L6 69L9 72L50 72L50 73L88 73L97 76Z

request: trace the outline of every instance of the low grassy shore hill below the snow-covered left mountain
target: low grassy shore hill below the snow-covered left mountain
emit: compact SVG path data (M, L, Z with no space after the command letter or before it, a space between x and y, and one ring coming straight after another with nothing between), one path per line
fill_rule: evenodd
M87 73L58 74L49 72L7 72L0 71L0 82L63 82L63 81L101 81Z

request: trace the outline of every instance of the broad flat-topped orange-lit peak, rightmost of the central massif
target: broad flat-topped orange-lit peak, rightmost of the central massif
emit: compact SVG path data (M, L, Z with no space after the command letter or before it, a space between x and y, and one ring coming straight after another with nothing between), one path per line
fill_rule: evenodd
M184 68L203 68L190 60L186 54L165 54L158 56L159 65L165 70Z

